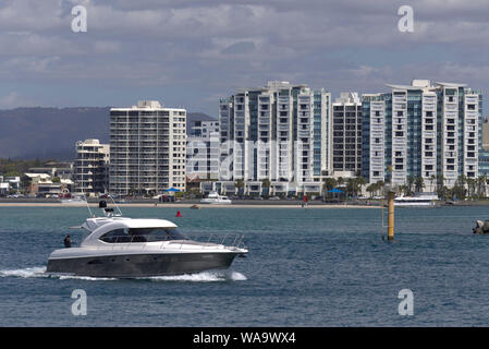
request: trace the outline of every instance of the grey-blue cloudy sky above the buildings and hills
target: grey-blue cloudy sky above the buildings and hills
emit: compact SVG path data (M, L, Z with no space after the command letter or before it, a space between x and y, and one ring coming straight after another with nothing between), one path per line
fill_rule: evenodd
M72 31L78 4L86 33ZM146 98L216 116L220 97L268 80L333 97L412 79L486 94L488 19L487 0L0 0L0 108Z

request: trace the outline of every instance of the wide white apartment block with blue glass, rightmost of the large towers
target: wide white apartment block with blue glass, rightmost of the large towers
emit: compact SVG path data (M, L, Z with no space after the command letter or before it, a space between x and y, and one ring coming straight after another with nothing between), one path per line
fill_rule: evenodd
M414 80L363 95L363 164L368 182L478 176L482 96L462 84Z

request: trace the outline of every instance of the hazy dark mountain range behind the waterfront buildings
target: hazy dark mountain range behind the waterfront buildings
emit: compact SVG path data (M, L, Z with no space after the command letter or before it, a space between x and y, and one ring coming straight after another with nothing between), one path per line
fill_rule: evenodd
M98 139L109 143L110 107L16 108L0 110L0 158L72 160L75 142ZM191 121L215 120L201 112Z

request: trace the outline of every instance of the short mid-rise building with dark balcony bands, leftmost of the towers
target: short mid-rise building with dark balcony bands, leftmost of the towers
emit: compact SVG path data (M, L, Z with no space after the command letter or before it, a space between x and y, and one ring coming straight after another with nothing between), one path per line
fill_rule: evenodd
M86 140L76 142L75 146L74 191L87 195L105 193L108 189L109 144Z

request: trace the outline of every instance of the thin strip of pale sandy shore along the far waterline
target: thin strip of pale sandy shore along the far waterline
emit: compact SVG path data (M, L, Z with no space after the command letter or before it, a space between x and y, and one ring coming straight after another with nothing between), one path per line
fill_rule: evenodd
M98 207L97 204L89 204L91 207ZM111 205L110 205L111 206ZM168 207L168 208L190 208L192 204L118 204L119 207ZM241 205L241 204L231 204L231 205L198 205L201 209L206 208L299 208L304 209L304 207L301 207L301 205L267 205L267 204L260 204L260 205ZM72 205L63 205L61 203L0 203L0 207L86 207L84 204L72 204ZM321 204L315 204L315 205L308 205L307 208L380 208L380 206L367 206L367 205L342 205L342 204L333 204L333 205L321 205Z

